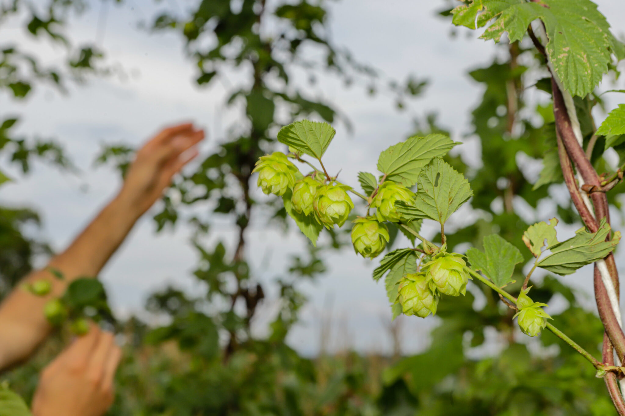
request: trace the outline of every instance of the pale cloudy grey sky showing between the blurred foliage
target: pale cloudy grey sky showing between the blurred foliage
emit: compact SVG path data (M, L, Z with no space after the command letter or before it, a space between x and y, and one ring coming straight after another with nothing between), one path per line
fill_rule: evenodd
M189 1L170 0L168 4L184 9ZM625 16L625 3L599 0L597 4L617 36L622 37L625 21L614 16ZM451 37L451 23L437 16L442 6L441 1L426 0L331 2L331 33L336 44L379 69L384 77L405 79L415 74L430 82L426 94L411 102L404 112L397 112L387 95L369 97L361 87L345 89L331 77L321 77L310 87L309 94L334 102L354 127L349 133L344 125L336 126L332 151L324 162L330 170L342 168L346 183L356 183L357 172L373 170L379 152L403 140L412 131L412 119L429 112L438 114L439 123L451 130L453 140L464 143L459 151L466 162L479 163L479 145L466 132L469 112L477 104L482 88L469 79L467 71L490 62L494 47L468 29L455 29ZM102 143L139 145L164 124L194 120L208 132L202 152L209 152L224 140L227 126L237 117L236 109L223 109L224 85L196 88L194 64L184 56L177 36L137 29L136 22L149 21L153 12L146 2L127 0L123 7L96 4L71 22L75 41L97 41L106 51L108 62L123 68L128 77L91 80L70 87L67 95L41 88L20 103L0 96L0 114L19 114L20 133L56 138L81 169L74 175L36 165L29 176L20 177L6 166L6 160L0 160L2 170L19 177L16 183L2 188L0 203L39 211L42 236L56 250L63 249L119 188L116 173L106 167L93 168ZM103 14L106 19L101 18ZM9 21L0 27L0 44L14 42L54 62L60 49L33 44L22 23ZM232 74L231 81L239 78ZM622 81L618 87L624 87ZM619 97L606 97L609 107L618 104ZM536 221L546 220L554 216L553 211L553 207L544 206L539 213L526 215ZM158 206L154 212L158 212ZM618 228L620 224L615 223ZM559 231L564 238L572 235L574 228L561 227ZM433 235L434 230L426 229L424 233ZM148 294L168 284L189 291L201 289L190 274L196 254L188 236L185 227L156 235L151 215L139 220L101 273L111 304L120 316L140 312ZM306 244L295 230L284 235L258 221L252 223L247 239L252 268L267 283L284 270L288 256L303 253ZM219 240L227 245L234 241L227 225L216 223L205 243L211 245ZM289 343L304 354L314 354L319 351L322 327L326 327L322 322L329 321L327 349L331 351L390 351L391 312L386 292L382 283L371 279L376 264L357 258L349 248L329 254L326 275L302 286L309 303L302 311L302 322L289 335ZM566 279L583 291L592 290L589 267ZM276 310L274 299L270 293L259 312L254 326L259 335ZM594 302L588 305L594 307ZM557 302L551 307L556 313ZM404 352L425 347L427 331L436 325L436 319L431 318L402 317L399 322Z

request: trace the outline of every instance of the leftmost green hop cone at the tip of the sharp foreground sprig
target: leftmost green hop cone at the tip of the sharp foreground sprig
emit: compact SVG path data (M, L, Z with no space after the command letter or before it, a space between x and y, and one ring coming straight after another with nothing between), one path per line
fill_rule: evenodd
M284 153L274 152L261 156L252 172L258 172L257 185L264 193L282 196L295 185L299 171Z

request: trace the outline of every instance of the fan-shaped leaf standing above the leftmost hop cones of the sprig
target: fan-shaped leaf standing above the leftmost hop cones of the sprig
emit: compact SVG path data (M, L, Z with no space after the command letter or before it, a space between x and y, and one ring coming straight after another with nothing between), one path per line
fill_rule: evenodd
M277 141L321 159L334 134L336 130L328 123L300 120L282 127L277 133Z

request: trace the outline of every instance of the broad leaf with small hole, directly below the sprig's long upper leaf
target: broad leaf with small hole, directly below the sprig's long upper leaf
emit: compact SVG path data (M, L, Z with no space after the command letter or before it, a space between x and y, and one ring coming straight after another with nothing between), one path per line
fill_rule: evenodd
M444 224L449 216L473 195L469 181L441 157L421 171L414 206L397 203L402 222L429 218Z

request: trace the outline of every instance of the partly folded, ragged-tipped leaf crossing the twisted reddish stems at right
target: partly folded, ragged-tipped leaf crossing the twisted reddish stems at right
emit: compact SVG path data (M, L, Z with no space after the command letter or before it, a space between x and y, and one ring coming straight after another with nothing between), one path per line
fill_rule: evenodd
M537 266L556 274L574 273L582 266L594 263L611 253L619 243L621 233L616 231L612 239L606 241L610 231L610 225L605 218L602 218L596 233L589 233L586 228L580 228L574 237L547 246L551 254L540 259Z

